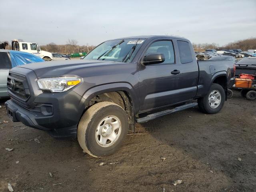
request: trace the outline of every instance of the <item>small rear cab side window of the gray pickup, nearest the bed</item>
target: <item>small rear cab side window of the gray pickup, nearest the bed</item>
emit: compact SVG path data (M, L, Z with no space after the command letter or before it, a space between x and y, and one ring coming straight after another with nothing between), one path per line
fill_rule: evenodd
M188 42L186 41L177 41L178 48L180 52L180 62L189 63L193 61L192 52Z

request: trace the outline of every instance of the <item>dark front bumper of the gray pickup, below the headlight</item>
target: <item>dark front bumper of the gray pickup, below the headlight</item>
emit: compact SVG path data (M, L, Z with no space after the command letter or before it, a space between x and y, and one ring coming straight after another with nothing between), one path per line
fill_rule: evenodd
M52 114L44 115L21 106L14 100L5 103L13 122L45 130L55 138L76 138L77 125L84 111L84 99L70 90L64 93L43 93L34 99L37 106L52 106Z

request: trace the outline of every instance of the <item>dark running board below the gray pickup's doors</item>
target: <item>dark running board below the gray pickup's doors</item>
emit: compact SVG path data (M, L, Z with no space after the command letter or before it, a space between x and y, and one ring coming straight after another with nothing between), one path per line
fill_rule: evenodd
M174 109L168 109L168 110L165 110L165 111L152 113L150 115L147 115L146 117L138 118L138 119L136 119L136 122L137 123L144 123L144 122L156 119L158 117L162 117L164 115L168 115L168 114L171 114L171 113L175 113L175 112L182 111L182 110L189 109L189 108L196 107L196 106L197 106L197 103L185 104L185 105L182 105L182 106L178 106Z

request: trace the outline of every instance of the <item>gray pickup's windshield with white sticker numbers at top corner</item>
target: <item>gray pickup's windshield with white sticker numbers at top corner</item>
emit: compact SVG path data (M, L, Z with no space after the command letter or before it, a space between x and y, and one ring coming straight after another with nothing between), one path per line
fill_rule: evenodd
M145 39L118 39L106 41L88 53L84 59L131 62Z

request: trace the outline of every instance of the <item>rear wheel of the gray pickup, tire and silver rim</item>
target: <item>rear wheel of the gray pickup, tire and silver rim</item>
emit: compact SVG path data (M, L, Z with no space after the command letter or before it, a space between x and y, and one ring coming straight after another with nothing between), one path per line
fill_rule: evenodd
M225 91L223 87L213 83L208 94L198 99L198 107L204 113L216 114L222 109L224 101Z

